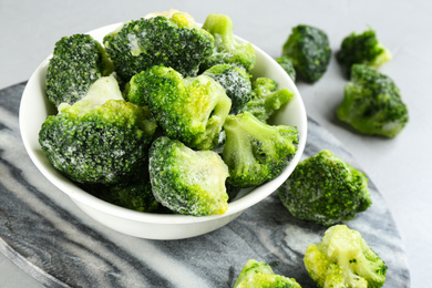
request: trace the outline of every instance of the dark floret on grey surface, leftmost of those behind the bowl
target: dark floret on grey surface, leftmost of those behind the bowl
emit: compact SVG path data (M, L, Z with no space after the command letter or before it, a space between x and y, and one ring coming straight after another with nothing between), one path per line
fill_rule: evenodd
M299 79L309 83L317 82L330 63L328 37L318 28L297 25L284 44L282 55L291 59Z

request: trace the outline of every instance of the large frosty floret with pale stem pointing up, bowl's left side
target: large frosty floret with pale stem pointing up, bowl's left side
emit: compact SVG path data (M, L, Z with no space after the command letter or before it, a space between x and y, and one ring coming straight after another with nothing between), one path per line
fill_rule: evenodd
M39 143L51 164L72 181L127 184L141 176L155 128L148 109L124 101L110 76L48 116Z

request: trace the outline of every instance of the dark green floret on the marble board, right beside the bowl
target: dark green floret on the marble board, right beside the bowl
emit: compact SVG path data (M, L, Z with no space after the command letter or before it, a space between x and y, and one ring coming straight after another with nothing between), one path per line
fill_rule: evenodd
M352 219L372 203L366 175L328 150L301 161L278 195L294 217L325 226Z

